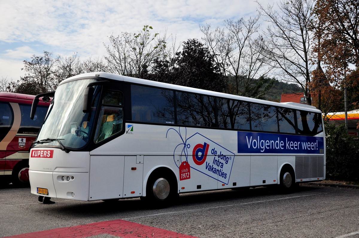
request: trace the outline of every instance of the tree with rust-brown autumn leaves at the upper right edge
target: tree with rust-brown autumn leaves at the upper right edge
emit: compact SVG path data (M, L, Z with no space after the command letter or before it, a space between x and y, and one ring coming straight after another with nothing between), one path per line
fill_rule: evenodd
M312 87L317 94L326 91L324 111L332 111L343 93L336 91L348 88L353 91L355 81L348 80L350 66L359 66L359 2L357 0L317 0L313 9L316 17L312 23L318 65L323 62L325 73L314 72L316 80ZM316 75L315 75L316 74ZM324 76L323 76L324 75ZM336 97L333 98L332 95ZM348 97L350 98L350 97ZM349 101L349 105L355 101ZM342 100L342 104L344 101ZM341 109L344 111L344 107Z

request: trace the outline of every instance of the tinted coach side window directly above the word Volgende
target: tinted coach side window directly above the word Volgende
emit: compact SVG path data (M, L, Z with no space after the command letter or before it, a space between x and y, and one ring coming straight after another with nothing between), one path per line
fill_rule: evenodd
M274 106L250 104L252 130L278 132L278 120Z

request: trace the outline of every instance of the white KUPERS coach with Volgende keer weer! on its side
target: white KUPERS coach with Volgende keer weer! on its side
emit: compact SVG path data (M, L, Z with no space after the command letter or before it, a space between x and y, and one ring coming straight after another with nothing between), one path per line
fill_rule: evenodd
M290 191L325 179L325 133L313 106L94 72L59 84L29 166L33 194L81 201Z

